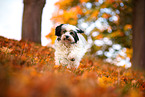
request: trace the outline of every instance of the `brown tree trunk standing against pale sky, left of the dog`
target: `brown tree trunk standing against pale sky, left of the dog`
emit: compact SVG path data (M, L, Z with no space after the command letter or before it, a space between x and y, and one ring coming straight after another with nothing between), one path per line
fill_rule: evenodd
M23 0L22 40L41 44L41 17L46 0Z

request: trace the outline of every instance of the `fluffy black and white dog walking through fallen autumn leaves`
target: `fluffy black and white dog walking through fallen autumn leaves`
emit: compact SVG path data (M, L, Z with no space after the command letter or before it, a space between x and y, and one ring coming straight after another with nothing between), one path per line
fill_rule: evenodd
M87 41L81 35L84 33L76 26L61 24L56 27L55 64L78 68L82 57L89 48Z

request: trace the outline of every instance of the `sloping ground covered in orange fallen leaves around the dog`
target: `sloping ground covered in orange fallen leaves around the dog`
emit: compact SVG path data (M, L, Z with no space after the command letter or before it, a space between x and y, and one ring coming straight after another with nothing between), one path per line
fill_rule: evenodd
M55 66L53 48L0 37L0 97L145 97L145 75L89 55Z

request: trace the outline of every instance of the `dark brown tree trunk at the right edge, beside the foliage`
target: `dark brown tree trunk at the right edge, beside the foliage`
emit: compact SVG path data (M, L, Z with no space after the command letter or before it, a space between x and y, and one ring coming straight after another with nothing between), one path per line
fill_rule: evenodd
M145 70L145 0L133 3L133 68Z

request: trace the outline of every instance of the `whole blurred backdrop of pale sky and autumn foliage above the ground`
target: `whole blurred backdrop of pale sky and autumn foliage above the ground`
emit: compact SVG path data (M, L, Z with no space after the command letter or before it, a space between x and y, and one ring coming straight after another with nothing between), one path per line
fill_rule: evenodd
M132 57L132 5L131 0L46 0L41 43L54 44L57 25L76 25L92 44L91 55L128 68ZM23 0L1 0L0 6L0 35L21 40Z

